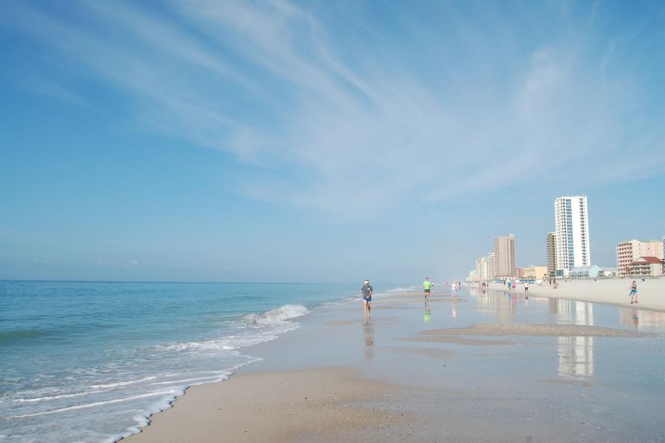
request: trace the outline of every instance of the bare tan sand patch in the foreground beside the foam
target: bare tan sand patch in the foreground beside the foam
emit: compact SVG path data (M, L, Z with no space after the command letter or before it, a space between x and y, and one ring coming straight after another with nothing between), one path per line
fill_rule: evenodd
M175 408L127 437L135 443L351 441L382 433L407 415L390 408L396 386L348 369L237 374L190 388Z

